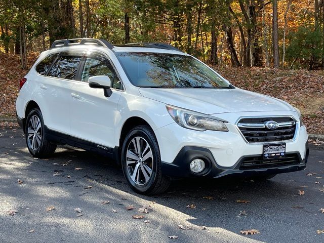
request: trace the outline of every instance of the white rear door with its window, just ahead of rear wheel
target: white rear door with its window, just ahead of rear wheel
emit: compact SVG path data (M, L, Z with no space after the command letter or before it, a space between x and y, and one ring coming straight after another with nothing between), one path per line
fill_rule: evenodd
M70 89L81 60L81 54L58 54L46 76L39 78L44 123L51 130L70 132Z

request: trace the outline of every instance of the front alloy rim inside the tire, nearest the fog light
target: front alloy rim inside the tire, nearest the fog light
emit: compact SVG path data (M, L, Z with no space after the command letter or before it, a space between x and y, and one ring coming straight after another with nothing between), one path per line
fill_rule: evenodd
M146 184L153 172L153 154L148 142L142 137L133 138L127 148L126 166L130 178L138 185Z

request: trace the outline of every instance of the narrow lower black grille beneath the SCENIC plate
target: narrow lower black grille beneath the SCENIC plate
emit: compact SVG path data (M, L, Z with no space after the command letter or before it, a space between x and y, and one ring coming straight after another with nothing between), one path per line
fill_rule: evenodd
M245 157L241 161L240 170L262 169L280 166L298 165L300 163L297 153L287 154L284 158L263 159L263 156Z

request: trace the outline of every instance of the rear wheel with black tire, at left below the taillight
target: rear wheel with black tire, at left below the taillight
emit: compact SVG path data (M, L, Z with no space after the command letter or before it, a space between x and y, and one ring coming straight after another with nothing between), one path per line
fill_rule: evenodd
M57 145L47 139L43 115L37 108L32 109L27 116L25 138L33 157L46 158L55 152Z

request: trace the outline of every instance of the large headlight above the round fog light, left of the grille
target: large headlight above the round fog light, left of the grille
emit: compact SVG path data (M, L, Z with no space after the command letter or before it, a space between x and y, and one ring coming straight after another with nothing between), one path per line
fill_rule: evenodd
M227 123L226 120L171 105L167 105L167 110L181 127L197 131L213 130L228 132L224 124Z

